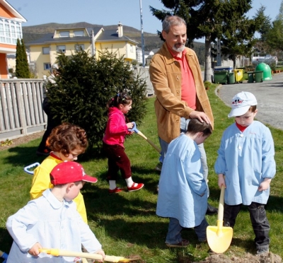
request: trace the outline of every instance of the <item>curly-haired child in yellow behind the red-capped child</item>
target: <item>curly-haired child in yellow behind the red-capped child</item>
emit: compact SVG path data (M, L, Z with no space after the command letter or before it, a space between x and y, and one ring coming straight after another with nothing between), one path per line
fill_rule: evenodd
M81 127L63 123L52 129L52 133L47 139L47 144L51 149L51 153L34 171L30 199L41 197L46 189L53 187L50 182L51 170L55 165L62 163L64 160L77 160L78 156L86 151L88 139L86 131ZM83 195L79 193L74 201L83 221L88 223Z

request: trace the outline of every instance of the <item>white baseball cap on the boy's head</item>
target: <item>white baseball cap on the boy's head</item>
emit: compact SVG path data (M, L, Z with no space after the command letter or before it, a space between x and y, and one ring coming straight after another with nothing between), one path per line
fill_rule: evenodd
M242 91L233 96L231 102L231 112L228 117L237 117L244 115L250 109L250 106L258 105L258 102L253 93Z

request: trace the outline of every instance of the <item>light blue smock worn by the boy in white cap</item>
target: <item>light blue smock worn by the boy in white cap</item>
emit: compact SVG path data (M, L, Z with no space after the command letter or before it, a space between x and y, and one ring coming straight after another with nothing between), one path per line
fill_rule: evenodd
M231 124L221 138L218 158L214 165L217 174L225 175L225 203L229 205L251 202L266 204L270 187L258 191L265 178L276 173L275 148L270 129L253 121L243 132Z

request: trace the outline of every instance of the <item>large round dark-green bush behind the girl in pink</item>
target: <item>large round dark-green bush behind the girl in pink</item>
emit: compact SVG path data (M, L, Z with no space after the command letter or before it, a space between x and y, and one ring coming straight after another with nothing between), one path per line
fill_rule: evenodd
M132 95L133 109L127 117L137 123L143 119L146 83L134 77L122 57L106 50L96 61L79 50L70 57L59 54L57 64L56 83L47 83L50 107L55 118L86 129L89 149L101 144L108 119L106 103L118 92L126 90Z

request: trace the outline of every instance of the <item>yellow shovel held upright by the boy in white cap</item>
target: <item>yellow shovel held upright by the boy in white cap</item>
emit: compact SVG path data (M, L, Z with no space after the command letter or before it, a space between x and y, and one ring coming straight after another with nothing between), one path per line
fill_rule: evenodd
M225 187L222 185L217 226L207 226L207 243L210 249L215 253L223 253L228 250L233 237L233 228L223 226L224 192Z

